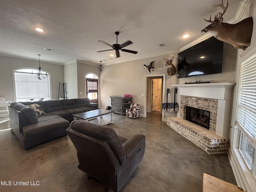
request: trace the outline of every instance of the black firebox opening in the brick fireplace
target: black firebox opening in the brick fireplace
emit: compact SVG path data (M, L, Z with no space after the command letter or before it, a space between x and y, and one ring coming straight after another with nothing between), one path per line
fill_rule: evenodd
M210 128L210 111L186 106L186 120L206 129Z

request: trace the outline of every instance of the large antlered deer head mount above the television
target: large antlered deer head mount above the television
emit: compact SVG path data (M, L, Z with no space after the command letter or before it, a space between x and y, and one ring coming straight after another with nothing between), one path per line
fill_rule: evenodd
M223 42L227 42L234 46L234 48L245 50L251 44L253 20L252 17L246 18L236 24L223 23L223 15L228 9L228 0L226 7L222 3L213 7L221 7L223 12L215 15L214 20L210 19L205 21L210 22L206 28L201 32L211 33L213 36Z

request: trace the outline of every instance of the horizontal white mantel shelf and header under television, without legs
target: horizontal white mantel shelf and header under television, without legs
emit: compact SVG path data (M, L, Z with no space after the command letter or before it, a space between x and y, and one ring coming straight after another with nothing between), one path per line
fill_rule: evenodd
M199 83L199 84L178 84L178 95L232 100L232 89L234 83Z

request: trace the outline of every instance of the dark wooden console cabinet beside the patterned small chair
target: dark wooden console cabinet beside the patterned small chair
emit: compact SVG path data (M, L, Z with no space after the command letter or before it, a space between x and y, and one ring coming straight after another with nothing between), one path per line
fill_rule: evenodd
M111 108L114 113L125 115L126 109L130 109L132 97L109 96L111 98Z

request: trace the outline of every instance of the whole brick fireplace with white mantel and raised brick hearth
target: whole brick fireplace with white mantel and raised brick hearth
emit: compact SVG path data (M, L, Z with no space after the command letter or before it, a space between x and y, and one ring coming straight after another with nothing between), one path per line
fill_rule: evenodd
M208 153L227 152L234 84L210 83L172 86L178 87L179 110L176 117L167 117L167 125ZM209 130L186 120L187 107L210 112Z

